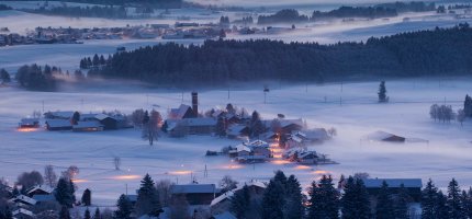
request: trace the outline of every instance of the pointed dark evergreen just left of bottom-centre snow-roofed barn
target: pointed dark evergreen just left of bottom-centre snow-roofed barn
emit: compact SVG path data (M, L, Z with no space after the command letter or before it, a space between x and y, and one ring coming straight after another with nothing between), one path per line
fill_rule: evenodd
M138 216L158 216L159 211L159 194L153 178L149 176L149 174L146 174L141 181L141 187L137 191L136 214Z

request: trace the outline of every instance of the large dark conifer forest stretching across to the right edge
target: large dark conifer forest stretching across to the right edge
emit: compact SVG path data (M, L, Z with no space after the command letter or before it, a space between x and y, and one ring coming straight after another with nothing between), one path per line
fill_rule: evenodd
M102 61L105 65L92 61L87 67L90 77L158 84L465 74L472 71L471 37L472 28L464 23L333 45L269 39L206 41L201 46L168 43L117 53Z

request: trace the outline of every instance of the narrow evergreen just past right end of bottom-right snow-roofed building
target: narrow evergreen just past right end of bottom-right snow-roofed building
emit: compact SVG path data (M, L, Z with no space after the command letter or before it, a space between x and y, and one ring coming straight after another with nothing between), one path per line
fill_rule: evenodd
M438 211L438 188L429 178L422 191L422 218L435 218Z

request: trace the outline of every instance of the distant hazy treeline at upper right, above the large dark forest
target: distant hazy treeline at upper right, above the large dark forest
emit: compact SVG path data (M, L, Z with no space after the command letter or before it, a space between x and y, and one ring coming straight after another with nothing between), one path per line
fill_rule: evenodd
M435 11L435 3L419 2L394 2L383 3L373 7L340 7L331 11L314 11L312 16L301 15L294 9L284 9L272 15L259 15L258 24L270 23L297 23L317 21L322 19L345 19L345 18L391 18L402 12Z

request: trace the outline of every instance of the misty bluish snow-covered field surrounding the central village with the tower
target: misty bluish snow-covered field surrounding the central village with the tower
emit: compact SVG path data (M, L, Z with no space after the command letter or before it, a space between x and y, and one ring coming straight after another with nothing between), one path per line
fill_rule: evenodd
M181 103L180 91L130 88L89 90L87 92L27 92L13 88L0 89L0 176L10 182L23 171L43 171L47 164L63 171L69 165L80 169L79 193L93 191L99 205L113 205L119 194L133 193L145 173L155 180L168 178L179 184L189 183L194 175L200 183L217 183L229 174L239 182L267 180L274 170L296 174L304 186L321 174L368 172L373 177L431 177L445 187L451 177L462 186L472 185L471 163L472 122L461 127L458 123L440 124L429 118L434 103L461 107L467 93L472 93L471 78L390 80L386 88L391 103L378 104L375 82L350 82L324 85L272 85L268 103L263 104L260 89L233 88L227 91L200 92L200 110L224 106L232 102L248 111L257 110L265 118L278 113L291 118L302 117L311 127L335 127L338 136L312 149L327 153L339 162L335 165L299 166L296 164L263 163L239 165L226 157L205 157L206 150L220 150L238 141L217 137L189 136L184 139L161 138L149 147L138 130L91 134L15 130L21 117L34 110L80 110L101 112L151 108L166 114ZM341 89L342 88L342 89ZM326 102L325 102L326 96ZM83 100L83 102L82 102ZM341 103L340 103L340 100ZM190 102L186 91L184 103ZM82 104L83 103L83 104ZM422 138L429 143L378 143L362 140L366 135L385 130L396 135ZM115 171L112 159L122 159L122 170ZM205 165L209 176L204 177Z

